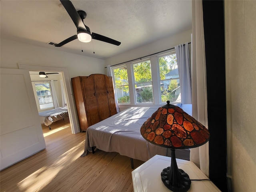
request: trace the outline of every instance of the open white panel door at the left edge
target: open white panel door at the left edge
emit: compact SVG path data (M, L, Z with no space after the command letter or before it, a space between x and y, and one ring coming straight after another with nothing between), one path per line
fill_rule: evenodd
M28 70L1 68L0 170L45 149Z

